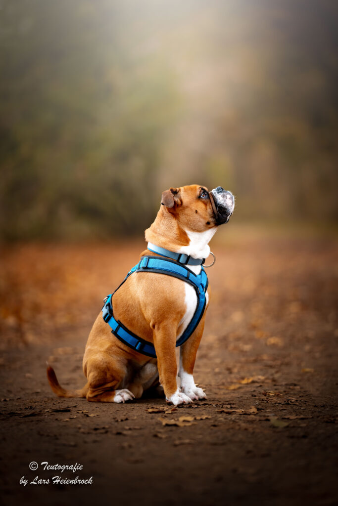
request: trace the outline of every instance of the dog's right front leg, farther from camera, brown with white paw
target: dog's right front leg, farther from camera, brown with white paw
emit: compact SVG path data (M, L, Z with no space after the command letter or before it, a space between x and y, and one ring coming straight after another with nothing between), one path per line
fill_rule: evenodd
M196 360L196 354L200 345L204 330L205 315L200 321L195 332L185 341L179 351L179 372L181 379L182 393L190 397L192 400L206 399L204 391L195 385L193 371Z

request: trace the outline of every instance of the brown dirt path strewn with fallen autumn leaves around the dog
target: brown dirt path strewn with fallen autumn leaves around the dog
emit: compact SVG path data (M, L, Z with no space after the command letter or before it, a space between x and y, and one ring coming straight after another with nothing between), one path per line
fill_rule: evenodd
M83 386L91 322L141 249L45 245L3 253L4 503L336 504L333 241L241 239L214 248L195 369L206 402L171 409L156 398L115 405L53 397L45 360L63 386ZM44 470L44 461L83 469ZM30 484L36 476L50 483ZM54 485L54 476L93 483Z

